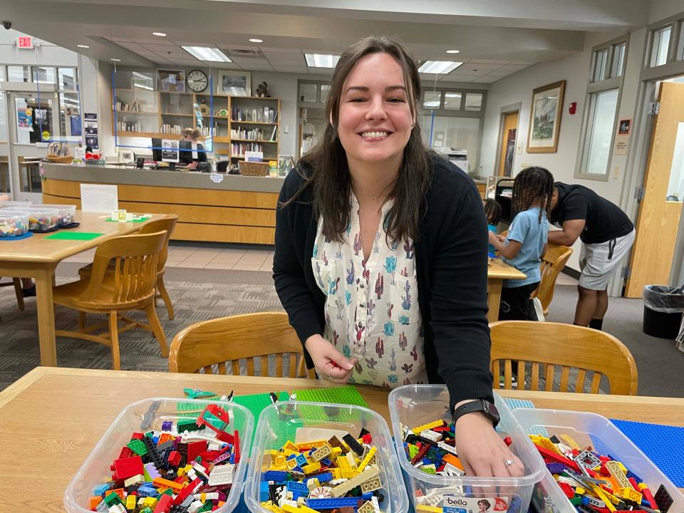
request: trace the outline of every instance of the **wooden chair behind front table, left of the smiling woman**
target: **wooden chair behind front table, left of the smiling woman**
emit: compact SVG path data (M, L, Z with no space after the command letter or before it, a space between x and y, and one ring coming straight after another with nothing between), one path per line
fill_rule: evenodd
M290 378L315 378L307 371L304 349L284 312L261 312L202 321L187 326L171 343L169 372L226 374L228 363L239 375L239 361L247 359L247 375L254 375L254 357L261 356L261 375L269 375L268 355L276 355L276 377L284 377L283 355L289 355ZM299 366L297 366L297 356Z

